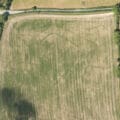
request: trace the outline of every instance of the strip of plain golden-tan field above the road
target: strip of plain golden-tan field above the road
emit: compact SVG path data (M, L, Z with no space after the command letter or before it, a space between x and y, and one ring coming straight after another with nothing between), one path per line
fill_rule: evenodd
M88 8L114 5L120 0L13 0L11 9L41 8Z

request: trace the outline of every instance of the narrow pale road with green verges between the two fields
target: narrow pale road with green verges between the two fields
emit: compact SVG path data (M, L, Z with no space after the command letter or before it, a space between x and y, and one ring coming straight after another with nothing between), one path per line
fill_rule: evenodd
M110 7L96 7L96 8L71 8L71 9L59 9L59 8L32 8L32 9L21 9L21 10L1 10L0 14L9 12L9 14L21 14L21 13L68 13L68 14L80 14L80 13L96 13L96 12L111 12L113 6Z

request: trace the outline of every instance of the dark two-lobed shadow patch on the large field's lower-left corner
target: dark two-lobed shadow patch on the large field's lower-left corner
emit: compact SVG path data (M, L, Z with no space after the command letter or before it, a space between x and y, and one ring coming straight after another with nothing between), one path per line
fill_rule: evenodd
M3 88L1 90L1 98L10 119L36 120L35 106L24 99L18 90L14 88Z

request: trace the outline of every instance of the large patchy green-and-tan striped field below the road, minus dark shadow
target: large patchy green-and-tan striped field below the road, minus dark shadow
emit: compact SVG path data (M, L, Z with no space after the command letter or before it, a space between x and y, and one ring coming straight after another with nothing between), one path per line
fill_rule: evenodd
M113 31L113 15L12 18L0 42L0 88L35 105L36 120L119 120ZM14 120L0 103L0 120Z

